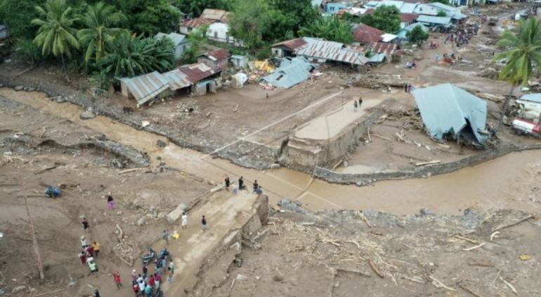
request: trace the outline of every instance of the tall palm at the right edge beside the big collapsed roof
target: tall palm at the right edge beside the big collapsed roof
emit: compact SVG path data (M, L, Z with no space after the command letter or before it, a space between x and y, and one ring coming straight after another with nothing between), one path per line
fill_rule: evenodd
M500 79L511 83L511 90L500 113L496 130L502 126L514 88L528 85L534 68L541 71L541 22L535 18L529 18L526 22L521 20L517 29L516 34L509 30L505 31L500 41L496 43L507 50L496 55L493 61L507 60L505 67L500 71Z

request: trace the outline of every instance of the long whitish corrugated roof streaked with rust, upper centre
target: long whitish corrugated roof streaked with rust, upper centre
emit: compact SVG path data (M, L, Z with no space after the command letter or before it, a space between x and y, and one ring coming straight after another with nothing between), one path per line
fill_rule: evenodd
M358 48L348 48L343 43L313 39L295 51L296 55L325 59L348 64L364 65L369 60Z

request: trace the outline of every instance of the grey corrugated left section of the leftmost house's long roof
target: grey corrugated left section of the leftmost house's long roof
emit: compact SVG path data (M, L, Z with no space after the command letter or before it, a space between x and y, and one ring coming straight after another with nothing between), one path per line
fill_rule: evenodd
M133 78L120 78L120 81L126 85L140 105L169 88L169 80L157 71Z

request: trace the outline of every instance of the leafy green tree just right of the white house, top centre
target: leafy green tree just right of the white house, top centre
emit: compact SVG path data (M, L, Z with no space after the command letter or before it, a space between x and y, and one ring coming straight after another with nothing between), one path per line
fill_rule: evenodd
M263 34L271 26L271 8L265 0L235 1L229 20L231 36L256 50L263 46Z

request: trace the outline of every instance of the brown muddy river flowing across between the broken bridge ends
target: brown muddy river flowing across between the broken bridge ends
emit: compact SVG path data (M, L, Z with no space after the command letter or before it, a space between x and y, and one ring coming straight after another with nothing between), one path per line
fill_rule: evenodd
M372 186L357 187L329 184L311 179L308 174L288 170L249 170L226 160L212 159L198 151L168 144L156 145L158 139L150 132L136 130L110 118L96 116L80 120L82 109L69 103L51 102L41 92L15 92L0 89L0 96L48 111L105 134L109 139L146 151L156 166L160 156L168 167L193 174L208 181L222 181L227 175L235 180L245 178L248 186L254 180L268 193L273 205L281 198L299 200L307 209L374 209L395 214L415 214L421 208L443 214L458 214L468 207L515 208L540 212L541 152L511 153L475 167L428 179L381 181ZM179 193L182 195L182 193Z

